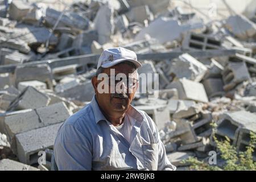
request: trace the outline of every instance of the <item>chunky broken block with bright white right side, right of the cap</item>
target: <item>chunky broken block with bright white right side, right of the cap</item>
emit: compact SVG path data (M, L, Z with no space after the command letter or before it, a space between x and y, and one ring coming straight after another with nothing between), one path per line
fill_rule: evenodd
M207 67L204 64L200 63L188 53L184 53L179 56L179 59L171 61L168 75L177 78L185 77L188 80L200 82L206 72Z

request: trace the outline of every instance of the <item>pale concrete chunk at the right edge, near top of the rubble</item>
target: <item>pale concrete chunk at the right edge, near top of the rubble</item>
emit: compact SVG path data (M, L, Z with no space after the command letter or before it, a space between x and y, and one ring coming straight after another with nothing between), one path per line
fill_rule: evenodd
M256 24L243 15L229 16L224 26L242 40L253 38L256 34Z

